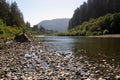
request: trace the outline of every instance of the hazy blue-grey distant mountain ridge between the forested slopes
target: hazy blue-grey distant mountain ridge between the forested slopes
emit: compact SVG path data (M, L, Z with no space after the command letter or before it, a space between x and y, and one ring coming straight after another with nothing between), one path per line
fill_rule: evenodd
M60 18L52 20L44 20L37 24L38 28L41 26L47 30L58 32L65 32L68 29L69 18Z

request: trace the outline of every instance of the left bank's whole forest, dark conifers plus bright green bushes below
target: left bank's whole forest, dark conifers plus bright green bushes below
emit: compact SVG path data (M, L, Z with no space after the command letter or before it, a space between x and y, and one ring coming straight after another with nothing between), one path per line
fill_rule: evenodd
M25 23L17 3L0 0L0 37L13 37L21 32L30 33L29 22Z

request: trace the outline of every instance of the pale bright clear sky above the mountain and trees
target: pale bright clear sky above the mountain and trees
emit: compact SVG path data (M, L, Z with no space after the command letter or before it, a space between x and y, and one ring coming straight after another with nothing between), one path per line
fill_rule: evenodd
M71 18L74 10L87 0L7 0L14 1L31 26L43 20Z

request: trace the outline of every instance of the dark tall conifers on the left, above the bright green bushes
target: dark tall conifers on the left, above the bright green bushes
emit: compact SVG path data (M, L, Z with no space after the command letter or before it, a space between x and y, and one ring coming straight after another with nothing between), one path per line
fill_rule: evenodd
M0 0L0 19L2 19L7 26L25 26L23 14L16 2L9 4L6 0Z

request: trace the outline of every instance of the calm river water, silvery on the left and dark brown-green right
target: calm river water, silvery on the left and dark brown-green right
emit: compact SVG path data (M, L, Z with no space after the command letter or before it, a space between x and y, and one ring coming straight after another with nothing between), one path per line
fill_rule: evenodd
M85 54L92 58L102 56L120 62L120 38L90 38L68 36L40 37L43 45L61 53Z

